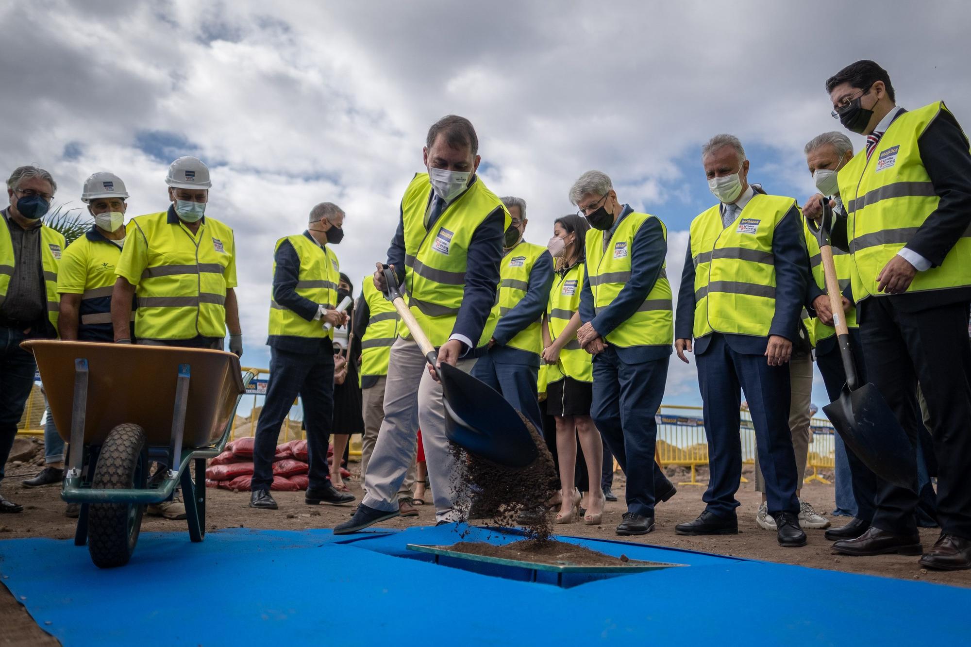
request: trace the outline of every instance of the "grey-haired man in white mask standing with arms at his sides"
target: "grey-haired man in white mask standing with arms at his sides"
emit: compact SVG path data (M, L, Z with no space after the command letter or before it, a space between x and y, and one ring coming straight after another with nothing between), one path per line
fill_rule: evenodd
M717 135L702 148L718 203L691 222L678 298L675 349L698 361L711 480L706 509L679 534L735 534L742 476L740 390L755 427L768 512L782 546L805 546L797 471L788 426L787 362L798 338L809 264L799 207L749 184L738 138Z

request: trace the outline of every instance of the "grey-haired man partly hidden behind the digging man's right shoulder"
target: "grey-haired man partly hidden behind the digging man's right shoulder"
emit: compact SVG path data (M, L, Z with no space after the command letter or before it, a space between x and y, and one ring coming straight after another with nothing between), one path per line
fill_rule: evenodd
M543 428L537 396L543 335L543 312L550 299L552 256L547 248L523 240L526 201L501 198L511 223L502 244L499 298L493 310L498 322L488 345L480 352L472 375L502 393L537 429Z

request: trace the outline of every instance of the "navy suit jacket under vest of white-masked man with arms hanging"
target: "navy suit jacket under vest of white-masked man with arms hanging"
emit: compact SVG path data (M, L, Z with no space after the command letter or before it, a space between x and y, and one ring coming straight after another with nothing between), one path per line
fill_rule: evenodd
M809 295L807 282L809 258L802 235L802 216L795 201L772 236L772 255L776 268L776 312L769 326L769 335L779 335L795 342L798 335L802 308ZM685 269L678 290L678 312L675 319L675 338L691 339L694 329L694 259L691 257L691 241L687 242ZM721 334L721 333L718 333ZM769 338L754 335L725 334L728 346L736 353L764 355ZM694 355L708 350L712 335L694 340Z

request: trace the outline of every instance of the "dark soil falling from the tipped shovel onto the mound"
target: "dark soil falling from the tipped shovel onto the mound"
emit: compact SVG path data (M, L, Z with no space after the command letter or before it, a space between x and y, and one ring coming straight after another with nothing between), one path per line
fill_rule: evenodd
M550 516L546 502L559 485L556 468L546 442L528 420L520 413L519 418L529 430L539 456L521 469L497 465L488 460L469 455L452 443L456 456L454 478L460 492L471 492L472 510L466 517L491 519L498 526L521 526L526 536L537 545L550 538Z

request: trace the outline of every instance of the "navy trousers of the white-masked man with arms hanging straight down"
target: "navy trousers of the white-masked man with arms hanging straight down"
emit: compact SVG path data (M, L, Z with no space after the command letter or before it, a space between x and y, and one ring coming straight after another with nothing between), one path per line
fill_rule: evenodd
M742 478L741 388L755 427L755 447L765 477L769 514L799 514L795 497L799 477L788 426L788 366L769 366L761 355L737 353L718 333L712 335L708 348L696 361L708 436L711 478L702 496L708 511L730 519L739 506L735 493Z

